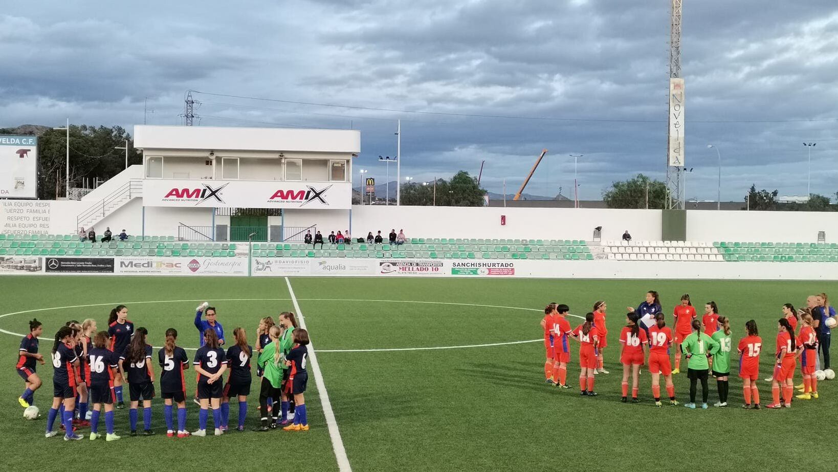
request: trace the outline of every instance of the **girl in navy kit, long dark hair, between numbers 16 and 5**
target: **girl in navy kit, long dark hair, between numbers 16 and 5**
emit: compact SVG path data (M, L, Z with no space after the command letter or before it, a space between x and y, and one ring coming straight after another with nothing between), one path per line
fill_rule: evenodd
M137 436L137 407L142 399L142 435L152 436L152 398L154 397L154 371L152 346L146 344L147 329L137 329L127 350L119 356L120 369L126 372L128 394L131 398L131 435Z

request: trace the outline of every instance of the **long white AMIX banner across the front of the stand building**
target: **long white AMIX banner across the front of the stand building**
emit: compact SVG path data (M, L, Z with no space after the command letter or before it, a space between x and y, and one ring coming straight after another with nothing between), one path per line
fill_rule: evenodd
M349 210L349 182L146 179L142 205Z

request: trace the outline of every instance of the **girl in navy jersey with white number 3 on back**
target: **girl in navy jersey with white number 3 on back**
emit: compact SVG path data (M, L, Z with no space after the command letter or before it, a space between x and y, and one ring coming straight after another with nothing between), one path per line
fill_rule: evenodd
M206 436L207 409L212 407L215 435L221 433L221 395L224 390L220 378L227 370L227 358L223 349L219 347L218 335L215 329L204 331L204 345L195 353L195 371L198 371L198 398L201 411L198 416L198 431L193 436Z

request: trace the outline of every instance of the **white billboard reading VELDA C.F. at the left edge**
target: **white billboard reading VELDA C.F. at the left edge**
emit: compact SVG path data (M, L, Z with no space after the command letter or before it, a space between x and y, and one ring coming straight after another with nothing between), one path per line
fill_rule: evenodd
M38 198L38 137L0 135L0 198Z

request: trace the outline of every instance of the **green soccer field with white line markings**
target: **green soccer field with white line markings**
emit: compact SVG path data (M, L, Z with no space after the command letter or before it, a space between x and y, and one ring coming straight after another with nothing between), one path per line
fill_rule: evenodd
M701 316L714 300L732 319L734 345L747 319L756 319L764 345L760 377L772 369L776 322L783 303L803 305L810 293L838 295L838 283L753 281L625 281L422 278L290 278L317 353L325 388L351 468L392 470L777 470L781 464L830 469L829 443L838 414L838 381L821 381L820 399L783 410L744 411L742 382L731 377L732 407L707 411L655 408L650 376L640 377L639 404L620 399L622 367L618 335L625 307L636 307L657 290L671 321L672 307L690 293ZM308 432L252 433L258 422L258 386L249 397L246 432L221 437L166 438L163 402L153 402L151 438L127 436L128 410L116 411L122 439L108 444L44 438L52 395L52 367L38 366L44 386L35 393L42 411L23 419L18 396L23 381L14 372L27 321L44 323L40 352L52 347L59 325L95 318L106 327L117 303L128 319L145 326L155 346L163 331L178 329L178 344L198 346L194 307L209 300L218 309L228 340L236 326L251 345L262 316L295 311L284 278L224 277L0 277L0 463L24 472L70 465L91 470L337 470L314 376L306 403ZM599 397L576 388L546 386L539 322L546 303L567 303L572 314L608 302L610 374L597 376ZM578 319L571 319L573 326ZM670 324L671 325L671 324ZM13 334L19 335L13 335ZM535 342L525 342L525 341ZM522 342L524 341L524 342ZM513 344L515 343L515 344ZM455 349L427 349L461 346ZM568 384L577 386L577 344L572 344ZM392 350L388 350L392 349ZM156 354L157 349L155 349ZM188 350L194 355L194 350ZM732 358L735 357L733 353ZM155 357L156 359L156 357ZM254 363L255 364L255 363ZM685 365L682 364L682 367ZM254 366L255 368L255 366ZM685 371L685 369L683 369ZM159 366L155 365L156 374ZM309 367L311 372L311 368ZM188 392L194 371L187 371ZM795 383L799 383L799 371ZM716 401L710 381L711 403ZM759 381L763 404L770 384ZM159 385L155 386L159 395ZM675 376L678 399L687 397L685 374ZM127 400L127 388L126 388ZM198 407L189 402L188 428L197 428ZM235 425L237 409L230 408ZM212 423L210 418L209 423ZM58 424L56 423L56 428ZM104 428L101 420L100 428ZM209 465L211 464L211 465ZM805 465L803 465L805 464Z

